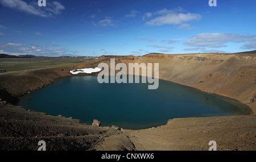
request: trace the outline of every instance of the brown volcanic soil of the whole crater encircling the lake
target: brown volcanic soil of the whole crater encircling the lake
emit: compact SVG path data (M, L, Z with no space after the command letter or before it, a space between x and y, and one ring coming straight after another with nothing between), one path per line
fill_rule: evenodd
M252 54L105 56L74 67L3 73L0 98L14 103L58 78L72 76L69 70L109 64L110 58L115 58L116 64L159 63L160 79L237 99L249 106L252 114L178 118L157 128L121 131L7 104L0 107L0 148L35 150L43 139L49 150L208 150L208 142L215 140L217 150L256 150L256 58Z

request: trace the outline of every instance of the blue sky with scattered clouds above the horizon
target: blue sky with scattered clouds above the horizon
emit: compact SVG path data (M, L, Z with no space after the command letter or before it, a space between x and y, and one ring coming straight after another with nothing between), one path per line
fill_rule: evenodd
M0 0L0 53L101 56L256 49L256 1Z

